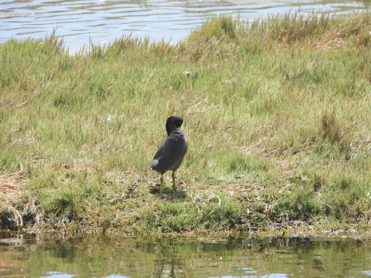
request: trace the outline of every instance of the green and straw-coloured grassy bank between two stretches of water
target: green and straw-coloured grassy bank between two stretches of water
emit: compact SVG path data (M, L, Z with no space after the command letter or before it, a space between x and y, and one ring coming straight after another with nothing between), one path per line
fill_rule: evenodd
M1 44L0 228L368 228L370 25L221 17L177 46L75 56L53 35ZM169 115L188 142L175 199L147 171Z

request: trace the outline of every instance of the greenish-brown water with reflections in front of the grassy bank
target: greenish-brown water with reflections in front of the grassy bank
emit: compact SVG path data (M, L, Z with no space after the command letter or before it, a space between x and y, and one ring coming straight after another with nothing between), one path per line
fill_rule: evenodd
M0 277L370 277L370 243L0 234Z

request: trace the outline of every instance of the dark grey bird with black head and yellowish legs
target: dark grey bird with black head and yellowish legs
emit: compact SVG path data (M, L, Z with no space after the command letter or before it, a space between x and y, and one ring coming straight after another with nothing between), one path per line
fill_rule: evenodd
M183 119L175 116L171 116L166 120L166 141L161 145L150 162L150 170L155 170L161 174L160 194L162 193L162 184L164 183L163 175L165 172L171 170L173 171L173 191L175 195L175 171L178 170L188 150L183 130L180 130L182 123Z

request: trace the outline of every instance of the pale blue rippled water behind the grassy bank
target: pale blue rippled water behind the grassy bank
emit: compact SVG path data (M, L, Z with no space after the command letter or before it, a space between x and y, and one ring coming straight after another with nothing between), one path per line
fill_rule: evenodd
M71 50L114 42L122 34L176 43L203 20L232 14L252 21L267 15L308 11L364 10L368 1L346 0L1 0L0 42L10 37L45 37L57 27Z

